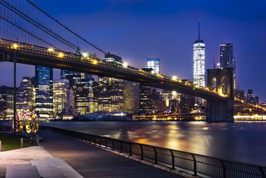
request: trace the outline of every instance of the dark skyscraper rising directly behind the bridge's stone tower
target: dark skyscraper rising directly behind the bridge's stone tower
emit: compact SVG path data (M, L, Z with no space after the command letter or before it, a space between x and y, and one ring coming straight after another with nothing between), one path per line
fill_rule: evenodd
M232 43L221 43L220 44L220 68L234 68L233 58L234 50Z

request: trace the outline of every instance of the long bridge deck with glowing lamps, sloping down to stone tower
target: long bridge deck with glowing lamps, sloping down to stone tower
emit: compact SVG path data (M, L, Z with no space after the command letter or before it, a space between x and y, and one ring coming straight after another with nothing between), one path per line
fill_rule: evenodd
M14 46L15 45L15 46ZM94 56L81 56L70 52L0 39L0 61L13 62L14 52L17 63L51 67L56 69L84 72L99 76L115 77L138 82L142 85L176 91L206 100L226 100L227 96L210 91L206 87L193 85L161 74L152 74L130 66L99 60Z

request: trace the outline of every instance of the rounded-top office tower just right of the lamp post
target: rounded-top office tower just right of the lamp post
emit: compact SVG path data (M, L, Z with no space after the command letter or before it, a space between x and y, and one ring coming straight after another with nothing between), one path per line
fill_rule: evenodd
M17 109L34 109L34 85L30 77L23 77L17 91Z

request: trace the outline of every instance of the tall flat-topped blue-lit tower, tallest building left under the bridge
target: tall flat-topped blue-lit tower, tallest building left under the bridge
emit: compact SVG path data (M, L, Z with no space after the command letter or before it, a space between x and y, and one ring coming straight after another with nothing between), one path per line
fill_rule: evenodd
M40 118L53 116L53 69L35 66L35 110Z

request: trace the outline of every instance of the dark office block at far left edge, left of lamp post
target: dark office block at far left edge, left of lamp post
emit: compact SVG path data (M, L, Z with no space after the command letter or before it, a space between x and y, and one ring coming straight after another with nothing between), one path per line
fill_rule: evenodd
M14 87L0 86L0 118L12 119L14 111Z

